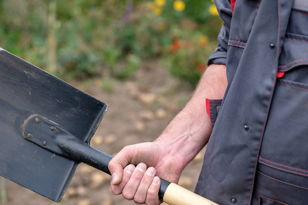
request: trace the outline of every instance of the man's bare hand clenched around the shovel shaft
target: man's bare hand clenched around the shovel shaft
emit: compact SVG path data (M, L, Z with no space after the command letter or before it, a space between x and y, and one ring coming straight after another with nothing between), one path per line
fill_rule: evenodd
M123 148L109 163L112 193L123 194L127 200L134 200L137 204L161 204L157 176L178 182L183 167L172 159L168 159L164 145L156 142Z

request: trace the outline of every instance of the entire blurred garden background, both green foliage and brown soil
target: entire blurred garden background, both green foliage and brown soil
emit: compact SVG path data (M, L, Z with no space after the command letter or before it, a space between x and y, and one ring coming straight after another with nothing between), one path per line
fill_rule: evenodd
M185 105L222 20L212 0L0 0L0 47L110 105L92 145L152 141ZM194 190L203 153L180 183ZM60 204L133 204L79 165ZM55 204L0 178L0 204Z

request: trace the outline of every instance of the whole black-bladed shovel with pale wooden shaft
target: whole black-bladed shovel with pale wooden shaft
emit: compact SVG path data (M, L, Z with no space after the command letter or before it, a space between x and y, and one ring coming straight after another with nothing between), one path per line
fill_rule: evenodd
M0 48L0 175L60 202L79 163L107 174L90 146L107 105ZM161 180L168 204L215 204Z

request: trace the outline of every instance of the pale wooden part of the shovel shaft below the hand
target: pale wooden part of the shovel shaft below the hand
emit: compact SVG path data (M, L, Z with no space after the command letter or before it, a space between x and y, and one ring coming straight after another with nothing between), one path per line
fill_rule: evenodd
M218 205L174 183L167 187L163 200L170 205Z

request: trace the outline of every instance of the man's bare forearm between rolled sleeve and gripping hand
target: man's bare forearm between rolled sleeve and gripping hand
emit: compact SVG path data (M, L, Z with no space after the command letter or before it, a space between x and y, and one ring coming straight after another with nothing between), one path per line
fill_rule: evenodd
M157 138L157 143L166 146L168 156L178 159L182 167L196 156L211 135L211 122L206 112L205 99L222 98L226 87L226 66L209 66L190 101Z

